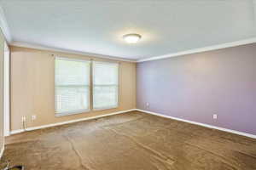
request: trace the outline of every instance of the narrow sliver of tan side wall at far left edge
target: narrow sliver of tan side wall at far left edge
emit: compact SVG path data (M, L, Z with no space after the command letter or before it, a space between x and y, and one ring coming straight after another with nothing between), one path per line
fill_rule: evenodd
M3 149L3 54L4 54L4 37L0 29L0 151Z

